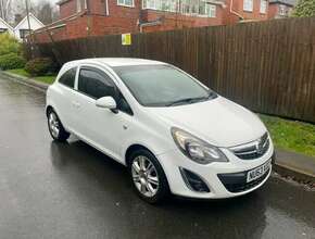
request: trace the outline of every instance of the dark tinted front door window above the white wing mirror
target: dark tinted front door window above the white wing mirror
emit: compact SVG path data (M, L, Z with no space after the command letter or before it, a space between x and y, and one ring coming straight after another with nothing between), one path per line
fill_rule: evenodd
M102 97L116 98L114 83L105 73L97 68L85 67L80 70L78 90L94 99Z

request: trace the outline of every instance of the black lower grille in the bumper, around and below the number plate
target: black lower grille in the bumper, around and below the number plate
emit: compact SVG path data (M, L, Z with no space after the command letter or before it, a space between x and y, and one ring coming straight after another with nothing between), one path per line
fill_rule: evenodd
M260 185L266 177L268 176L270 169L267 171L262 177L252 180L250 183L247 181L247 173L239 173L239 174L218 174L218 178L224 185L224 187L229 192L242 192L250 190L257 185ZM243 175L242 175L243 174Z

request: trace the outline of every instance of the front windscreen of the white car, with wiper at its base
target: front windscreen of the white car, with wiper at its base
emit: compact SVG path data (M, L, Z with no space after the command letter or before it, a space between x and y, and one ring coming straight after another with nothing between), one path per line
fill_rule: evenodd
M134 97L144 106L172 106L216 98L192 77L171 65L113 67Z

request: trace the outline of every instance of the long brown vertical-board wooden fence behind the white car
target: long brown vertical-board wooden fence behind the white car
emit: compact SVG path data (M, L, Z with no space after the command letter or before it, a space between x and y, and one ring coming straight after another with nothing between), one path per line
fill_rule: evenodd
M38 45L63 63L94 56L161 60L249 109L315 123L315 17ZM215 113L215 112L214 112Z

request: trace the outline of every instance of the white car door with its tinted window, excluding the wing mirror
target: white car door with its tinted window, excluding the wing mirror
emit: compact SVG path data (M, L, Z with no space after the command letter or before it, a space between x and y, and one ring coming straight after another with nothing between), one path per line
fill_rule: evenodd
M96 101L113 97L117 112L98 108ZM103 70L81 66L77 81L77 135L106 154L121 161L119 152L126 137L125 124L133 112L112 78Z

